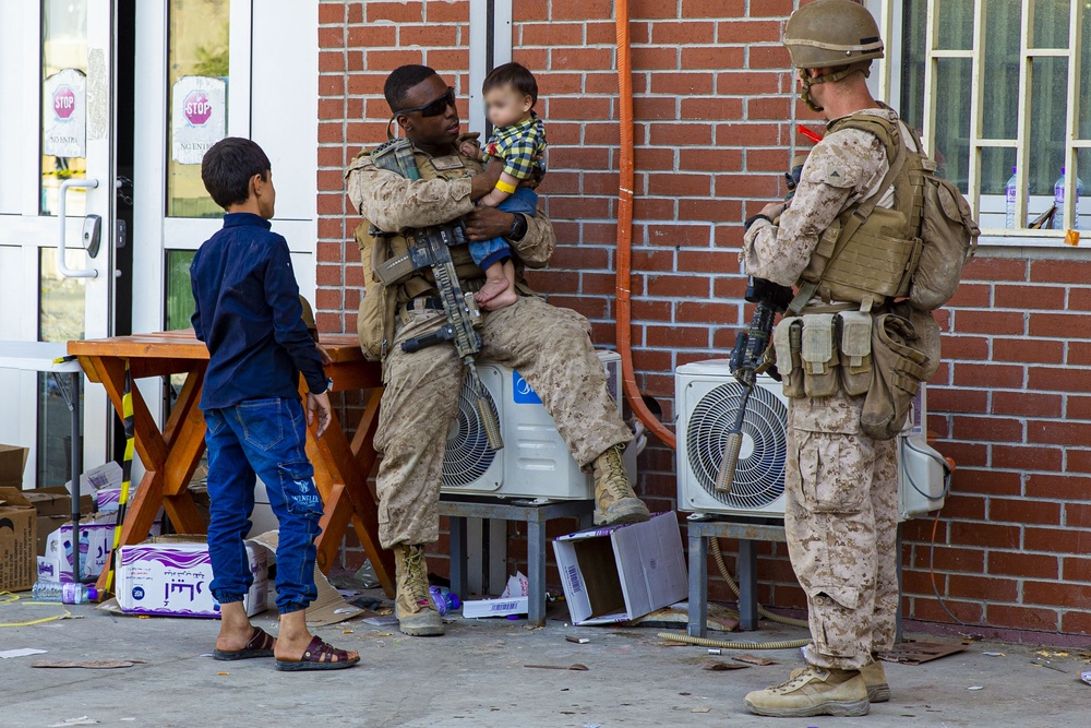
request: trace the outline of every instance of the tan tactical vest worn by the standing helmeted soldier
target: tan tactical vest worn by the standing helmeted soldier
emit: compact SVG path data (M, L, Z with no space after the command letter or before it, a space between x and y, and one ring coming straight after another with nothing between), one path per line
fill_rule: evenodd
M906 146L897 121L854 114L835 121L829 132L841 129L875 135L890 168L875 194L846 208L823 232L795 285L800 303L817 294L826 302L851 301L868 311L909 295L923 246L925 159ZM891 184L894 206L877 207Z

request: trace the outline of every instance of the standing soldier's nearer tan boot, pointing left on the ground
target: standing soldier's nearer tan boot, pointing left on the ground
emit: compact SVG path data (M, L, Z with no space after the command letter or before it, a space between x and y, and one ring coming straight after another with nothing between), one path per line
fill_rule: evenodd
M808 665L775 688L746 695L746 707L757 715L802 718L814 715L867 715L867 685L859 670L827 670Z

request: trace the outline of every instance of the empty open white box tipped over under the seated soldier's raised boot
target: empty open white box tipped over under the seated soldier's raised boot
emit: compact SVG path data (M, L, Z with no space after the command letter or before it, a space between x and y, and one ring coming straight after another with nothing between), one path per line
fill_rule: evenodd
M554 539L573 624L627 622L686 598L678 517L594 528Z

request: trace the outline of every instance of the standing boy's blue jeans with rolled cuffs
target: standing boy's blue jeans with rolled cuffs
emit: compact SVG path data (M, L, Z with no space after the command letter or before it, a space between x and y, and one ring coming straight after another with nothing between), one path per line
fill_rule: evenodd
M307 458L307 418L299 399L248 399L204 413L208 445L208 556L212 593L242 601L254 582L242 539L252 526L254 476L261 477L280 523L276 549L276 606L305 609L317 596L314 539L322 499Z

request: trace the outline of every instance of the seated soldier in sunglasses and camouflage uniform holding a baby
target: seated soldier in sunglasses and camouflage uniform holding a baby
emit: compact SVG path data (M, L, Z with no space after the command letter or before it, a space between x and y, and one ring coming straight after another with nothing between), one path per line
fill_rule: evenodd
M531 217L475 207L473 199L491 190L496 178L475 186L482 167L458 154L458 114L449 91L449 103L445 102L445 88L425 67L403 67L391 74L387 100L415 143L422 179L409 181L361 154L346 170L352 207L365 224L399 235L467 216L472 239L505 235L521 278L523 266L543 267L549 262L555 244L552 225L540 208ZM427 116L420 108L405 110L418 105ZM473 264L466 246L452 248L451 253L463 289L476 290L484 273ZM371 261L363 262L365 272L370 271ZM369 277L367 284L371 283ZM589 338L590 324L575 311L549 306L525 282L518 288L516 303L483 313L480 357L517 369L541 397L573 457L594 472L598 523L646 521L647 506L633 493L621 461L633 435L607 389ZM403 632L441 634L442 622L428 596L422 545L439 538L444 447L458 411L465 372L449 344L412 354L401 350L403 342L430 334L446 322L434 305L430 272L418 272L393 293L397 297L394 336L384 347L385 391L375 435L375 447L383 454L376 480L379 537L383 547L395 551Z

